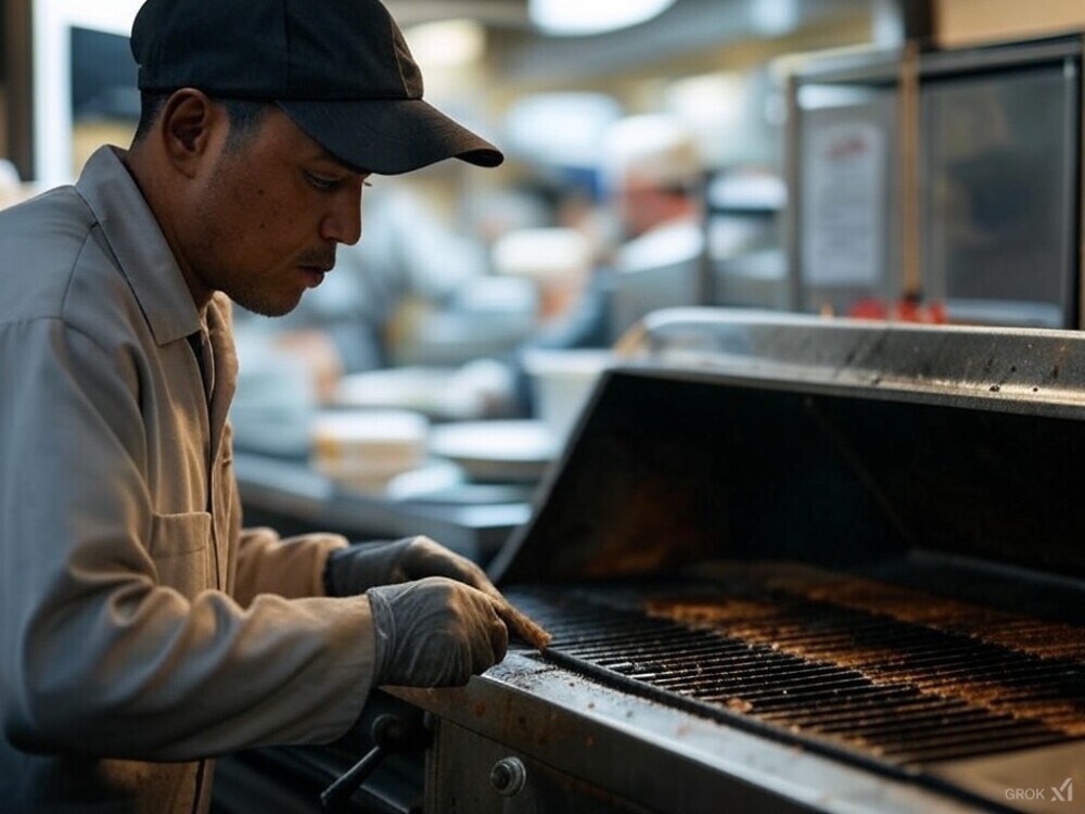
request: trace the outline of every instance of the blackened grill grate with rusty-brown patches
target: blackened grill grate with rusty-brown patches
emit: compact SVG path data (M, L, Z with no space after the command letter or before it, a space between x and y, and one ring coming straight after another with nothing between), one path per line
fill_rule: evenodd
M831 595L809 587L510 596L550 631L556 661L864 760L918 766L1085 737L1080 628L995 624L950 602L939 613L942 600L917 594L909 611L889 586L869 594L870 610L854 585Z

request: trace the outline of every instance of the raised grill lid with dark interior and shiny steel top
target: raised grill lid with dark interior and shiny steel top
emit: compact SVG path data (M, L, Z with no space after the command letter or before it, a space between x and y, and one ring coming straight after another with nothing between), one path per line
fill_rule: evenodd
M1080 596L1083 419L1077 332L659 311L492 573L933 551Z

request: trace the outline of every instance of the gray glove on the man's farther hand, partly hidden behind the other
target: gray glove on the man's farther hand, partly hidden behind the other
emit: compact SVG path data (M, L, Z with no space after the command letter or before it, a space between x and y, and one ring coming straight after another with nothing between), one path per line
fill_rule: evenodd
M425 576L447 576L500 596L478 565L424 536L392 543L358 543L332 551L324 569L324 586L329 596L354 596L376 585Z

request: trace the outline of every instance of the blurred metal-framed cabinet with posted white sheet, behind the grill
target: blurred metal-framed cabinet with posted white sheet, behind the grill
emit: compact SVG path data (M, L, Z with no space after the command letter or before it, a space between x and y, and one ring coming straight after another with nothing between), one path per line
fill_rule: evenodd
M1081 322L1082 40L827 55L789 100L797 308Z

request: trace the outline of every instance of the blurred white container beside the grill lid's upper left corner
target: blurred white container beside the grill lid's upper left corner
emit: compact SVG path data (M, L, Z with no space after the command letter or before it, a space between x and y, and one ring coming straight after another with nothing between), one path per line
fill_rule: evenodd
M603 370L614 364L605 349L533 349L524 354L535 414L563 444Z

